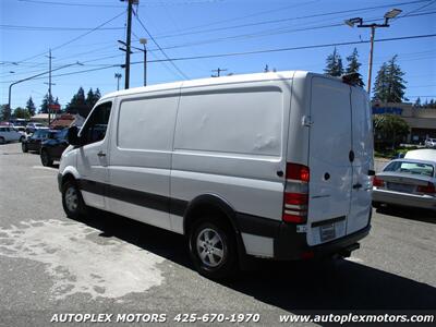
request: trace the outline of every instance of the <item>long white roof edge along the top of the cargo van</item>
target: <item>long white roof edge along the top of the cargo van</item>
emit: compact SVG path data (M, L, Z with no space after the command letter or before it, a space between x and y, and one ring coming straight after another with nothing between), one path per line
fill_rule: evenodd
M110 94L102 96L101 100L104 100L106 98L112 98L116 96L133 95L133 94L142 93L142 92L157 92L157 90L167 90L167 89L170 90L170 89L174 89L174 88L180 88L182 86L195 87L195 86L207 86L207 85L223 85L223 84L241 83L241 82L290 80L290 78L294 78L294 77L303 77L304 78L308 74L329 77L332 80L338 80L338 77L331 77L331 76L327 76L327 75L323 75L323 74L311 73L307 71L283 71L283 72L242 74L242 75L209 77L209 78L199 78L199 80L181 81L181 82L172 82L172 83L134 87L134 88L112 92Z

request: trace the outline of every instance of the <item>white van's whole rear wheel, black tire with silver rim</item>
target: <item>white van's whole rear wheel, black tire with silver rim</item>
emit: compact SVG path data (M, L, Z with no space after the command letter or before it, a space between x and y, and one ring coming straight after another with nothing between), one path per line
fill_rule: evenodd
M238 247L234 232L223 223L222 219L219 216L202 217L190 229L192 261L197 271L209 279L227 279L233 277L238 271ZM213 244L215 235L218 238ZM205 237L208 240L205 240ZM204 247L199 245L202 242ZM222 253L221 257L220 253ZM202 256L204 256L203 259Z

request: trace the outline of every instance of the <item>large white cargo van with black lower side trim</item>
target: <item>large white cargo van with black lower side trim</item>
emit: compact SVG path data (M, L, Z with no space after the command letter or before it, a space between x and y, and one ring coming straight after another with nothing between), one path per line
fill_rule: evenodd
M116 213L189 239L198 271L246 255L350 255L370 231L367 94L340 78L278 72L109 94L59 172L68 216Z

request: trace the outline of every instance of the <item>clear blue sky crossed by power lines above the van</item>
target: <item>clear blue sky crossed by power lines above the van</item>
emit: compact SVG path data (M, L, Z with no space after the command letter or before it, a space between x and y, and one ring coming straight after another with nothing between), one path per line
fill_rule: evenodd
M374 22L392 8L401 9L403 17L392 20L389 28L377 28L376 39L436 34L436 0L140 0L132 45L142 48L138 38L148 39L148 84L208 77L218 68L234 74L262 72L266 64L323 72L334 46L175 60L173 64L156 60L360 43L370 38L370 29L351 28L343 20L361 16ZM114 73L123 75L122 88L124 52L117 40L125 40L125 23L126 2L119 0L1 0L0 104L8 102L11 83L48 71L50 48L52 68L61 68L52 74L52 95L62 107L80 86L85 92L98 87L101 94L116 90ZM354 47L366 82L370 45L337 48L346 62ZM131 87L143 83L143 53L134 51ZM376 43L373 75L395 55L405 73L407 97L411 101L417 96L436 98L436 37ZM81 65L62 68L77 61ZM12 108L24 107L29 96L39 108L47 83L48 74L44 74L13 86Z

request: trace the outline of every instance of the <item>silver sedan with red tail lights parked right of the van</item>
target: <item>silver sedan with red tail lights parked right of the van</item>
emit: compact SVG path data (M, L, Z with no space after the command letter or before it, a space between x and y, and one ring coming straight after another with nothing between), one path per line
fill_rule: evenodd
M436 210L436 162L390 161L373 180L373 206L392 204Z

